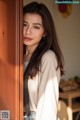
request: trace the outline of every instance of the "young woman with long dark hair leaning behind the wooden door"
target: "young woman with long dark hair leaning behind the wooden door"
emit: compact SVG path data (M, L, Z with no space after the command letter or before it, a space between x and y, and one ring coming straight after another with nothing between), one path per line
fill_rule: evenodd
M24 7L24 120L57 120L63 56L43 3Z

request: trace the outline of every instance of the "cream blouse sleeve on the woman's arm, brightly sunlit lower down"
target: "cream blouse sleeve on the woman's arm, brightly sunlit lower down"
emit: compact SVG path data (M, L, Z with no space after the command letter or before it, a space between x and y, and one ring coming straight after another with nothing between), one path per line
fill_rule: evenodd
M42 58L36 120L57 120L60 70L52 51Z

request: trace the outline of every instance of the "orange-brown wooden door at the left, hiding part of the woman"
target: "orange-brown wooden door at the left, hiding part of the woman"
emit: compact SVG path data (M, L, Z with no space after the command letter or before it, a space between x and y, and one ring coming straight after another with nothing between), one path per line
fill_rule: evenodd
M23 116L22 0L0 0L0 112ZM7 119L6 119L7 120Z

